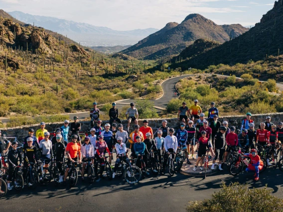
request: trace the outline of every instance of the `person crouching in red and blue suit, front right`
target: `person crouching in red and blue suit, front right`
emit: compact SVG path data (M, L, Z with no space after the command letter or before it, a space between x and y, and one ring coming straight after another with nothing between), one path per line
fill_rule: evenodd
M251 153L244 154L251 158L251 162L248 168L246 168L246 172L255 172L254 177L255 180L258 181L260 179L260 170L262 170L264 163L260 156L258 156L258 151L256 149L252 149Z

